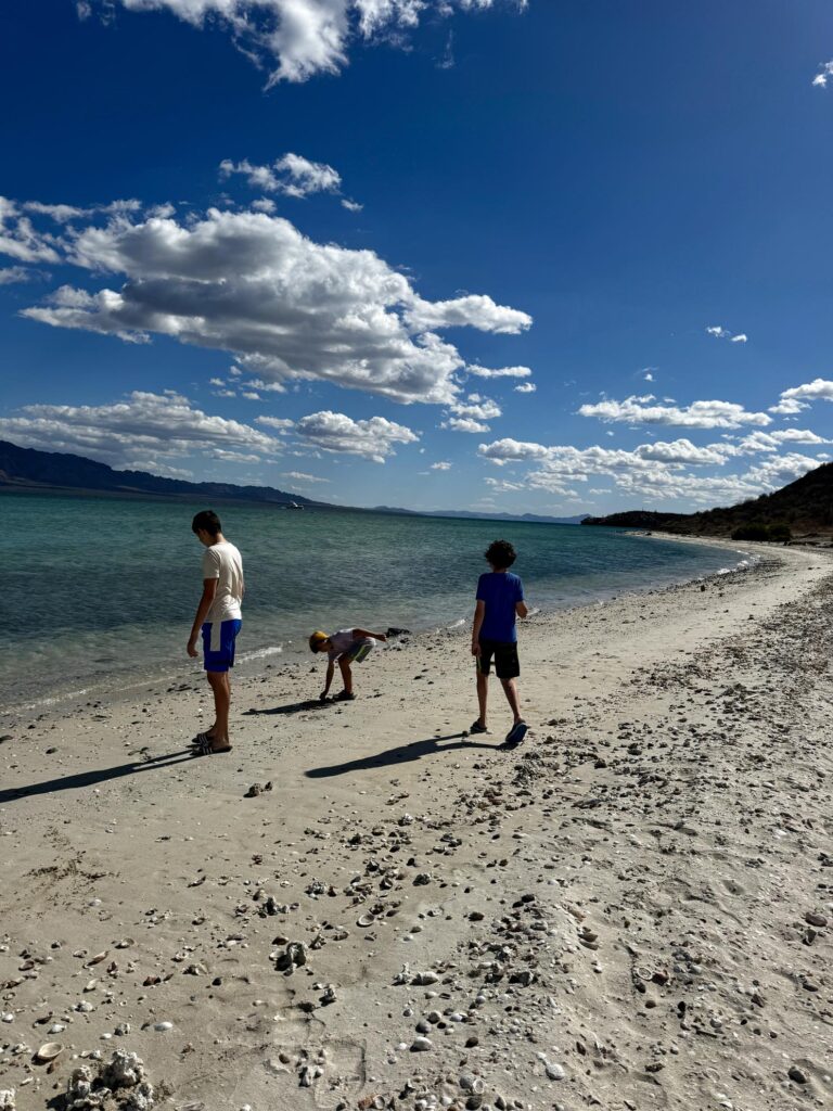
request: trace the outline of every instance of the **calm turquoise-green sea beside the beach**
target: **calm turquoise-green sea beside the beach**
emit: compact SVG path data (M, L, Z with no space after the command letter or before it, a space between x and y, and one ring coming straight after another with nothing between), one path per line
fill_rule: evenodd
M184 654L201 590L204 506L0 497L0 705L199 672ZM531 607L555 609L692 579L747 558L608 529L262 507L221 511L245 567L239 662L305 649L313 629L468 621L482 552L519 551Z

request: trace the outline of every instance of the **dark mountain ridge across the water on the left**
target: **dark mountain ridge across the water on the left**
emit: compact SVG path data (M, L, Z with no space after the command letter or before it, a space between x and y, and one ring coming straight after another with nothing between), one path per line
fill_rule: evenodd
M167 498L227 499L277 506L323 506L272 487L240 487L231 482L187 482L164 479L147 471L116 471L83 456L61 451L18 448L0 440L0 488L74 490L118 494L155 494ZM332 508L332 507L328 507Z

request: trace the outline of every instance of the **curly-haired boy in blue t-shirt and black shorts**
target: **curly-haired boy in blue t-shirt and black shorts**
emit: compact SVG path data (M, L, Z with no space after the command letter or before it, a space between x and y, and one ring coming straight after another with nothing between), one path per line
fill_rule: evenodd
M521 673L518 661L518 633L515 618L525 618L529 610L523 601L523 584L510 573L515 561L515 550L508 540L493 541L485 551L491 573L481 574L478 581L478 600L471 631L471 651L478 664L478 702L480 717L470 732L488 733L485 723L489 697L489 670L494 657L494 673L503 684L503 693L512 709L514 723L504 744L520 744L526 729L518 704L515 679Z

